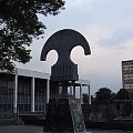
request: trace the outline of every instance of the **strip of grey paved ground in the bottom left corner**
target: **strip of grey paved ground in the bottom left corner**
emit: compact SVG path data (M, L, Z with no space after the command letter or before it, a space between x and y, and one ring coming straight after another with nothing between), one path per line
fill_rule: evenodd
M42 126L32 125L3 125L0 126L0 133L42 133Z

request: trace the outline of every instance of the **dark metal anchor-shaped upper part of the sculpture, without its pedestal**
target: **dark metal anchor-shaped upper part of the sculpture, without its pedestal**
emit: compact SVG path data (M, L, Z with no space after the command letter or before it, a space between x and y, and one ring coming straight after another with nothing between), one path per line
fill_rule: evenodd
M90 47L85 38L70 29L64 29L55 32L45 42L42 53L41 61L45 61L47 54L51 50L58 52L58 62L52 66L51 80L53 81L76 81L78 65L71 61L70 53L76 45L81 45L84 50L84 54L90 54Z

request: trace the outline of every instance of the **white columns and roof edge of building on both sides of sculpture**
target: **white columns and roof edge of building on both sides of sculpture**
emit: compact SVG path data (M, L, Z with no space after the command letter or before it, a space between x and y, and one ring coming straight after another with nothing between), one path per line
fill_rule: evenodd
M30 74L28 72L31 72ZM49 103L50 99L50 78L49 75L44 73L38 73L38 72L32 72L32 71L25 71L25 70L20 70L20 73L18 74L18 71L14 74L13 79L13 113L18 112L18 76L29 76L31 78L31 112L34 112L34 105L35 105L35 78L40 78L43 80L47 80L47 103ZM44 78L45 75L45 78ZM78 81L74 85L70 85L70 94L72 94L74 98L76 96L76 88L80 86L80 101L82 104L82 90L84 88L88 88L88 94L89 94L89 104L91 104L91 96L90 96L90 82L81 80ZM45 96L45 95L44 95Z

